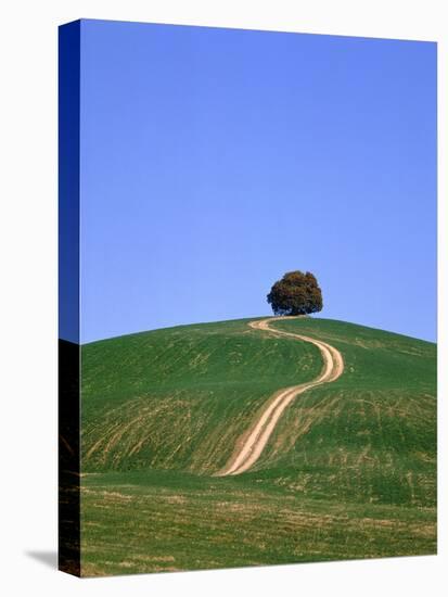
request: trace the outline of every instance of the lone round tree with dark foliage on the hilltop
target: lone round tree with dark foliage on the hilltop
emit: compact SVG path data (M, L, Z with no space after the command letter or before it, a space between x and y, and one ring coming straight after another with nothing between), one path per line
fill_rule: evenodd
M273 284L268 303L276 315L306 315L322 309L322 292L309 271L290 271Z

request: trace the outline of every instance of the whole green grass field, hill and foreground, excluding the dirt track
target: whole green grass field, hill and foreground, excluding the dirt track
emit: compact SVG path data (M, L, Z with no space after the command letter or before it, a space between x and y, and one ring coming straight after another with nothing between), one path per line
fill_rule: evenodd
M217 478L269 396L322 367L248 321L82 346L84 575L436 551L436 346L276 321L345 371L297 396L253 469Z

